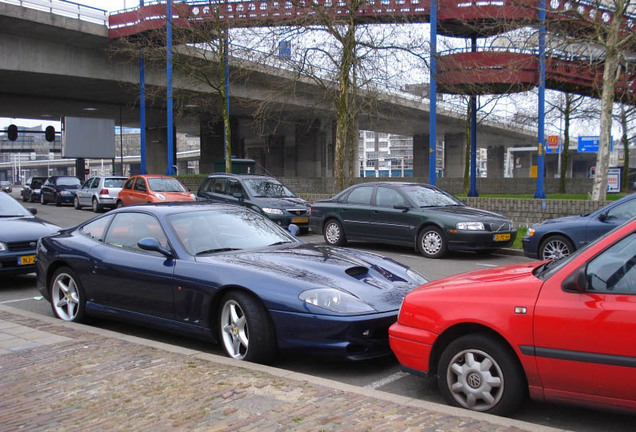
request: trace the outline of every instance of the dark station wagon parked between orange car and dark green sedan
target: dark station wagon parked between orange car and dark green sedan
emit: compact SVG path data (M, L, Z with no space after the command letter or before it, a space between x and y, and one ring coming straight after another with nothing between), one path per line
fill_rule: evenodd
M309 230L310 204L273 177L213 173L197 191L197 200L240 204L264 214L278 225Z

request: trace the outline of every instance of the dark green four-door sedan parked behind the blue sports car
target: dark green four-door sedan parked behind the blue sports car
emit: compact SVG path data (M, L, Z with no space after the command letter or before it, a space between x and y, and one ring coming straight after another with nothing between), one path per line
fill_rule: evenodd
M404 245L427 258L449 251L489 253L512 245L517 236L505 216L468 207L435 186L406 182L358 184L316 201L309 225L329 245Z

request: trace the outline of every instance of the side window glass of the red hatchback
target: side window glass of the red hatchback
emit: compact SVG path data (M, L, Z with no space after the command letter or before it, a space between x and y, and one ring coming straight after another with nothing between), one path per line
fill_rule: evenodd
M636 294L636 234L631 234L595 257L587 266L590 290Z

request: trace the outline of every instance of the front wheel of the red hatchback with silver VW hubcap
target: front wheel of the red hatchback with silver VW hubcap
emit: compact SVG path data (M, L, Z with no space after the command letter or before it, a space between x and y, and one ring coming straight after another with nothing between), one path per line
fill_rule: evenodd
M470 359L470 362L467 362ZM437 376L449 405L509 415L523 402L528 385L510 348L492 336L462 336L442 352Z

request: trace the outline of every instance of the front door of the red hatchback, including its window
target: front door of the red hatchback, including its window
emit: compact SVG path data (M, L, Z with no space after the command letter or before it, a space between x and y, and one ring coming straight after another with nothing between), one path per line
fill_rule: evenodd
M535 309L534 349L546 398L633 409L636 233L607 246L593 245L545 282ZM584 292L563 288L574 273L585 281Z

